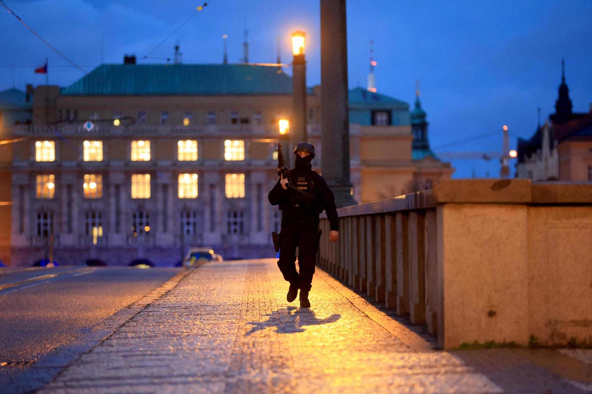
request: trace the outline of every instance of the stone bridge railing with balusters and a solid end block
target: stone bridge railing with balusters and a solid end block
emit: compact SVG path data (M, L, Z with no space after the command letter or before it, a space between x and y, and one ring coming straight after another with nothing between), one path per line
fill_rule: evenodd
M592 343L592 183L448 180L338 213L321 268L443 349Z

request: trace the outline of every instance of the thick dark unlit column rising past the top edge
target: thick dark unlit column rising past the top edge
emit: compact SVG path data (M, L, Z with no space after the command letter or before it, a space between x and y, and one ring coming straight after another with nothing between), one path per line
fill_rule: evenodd
M346 0L321 0L321 171L337 207L357 204L349 173Z

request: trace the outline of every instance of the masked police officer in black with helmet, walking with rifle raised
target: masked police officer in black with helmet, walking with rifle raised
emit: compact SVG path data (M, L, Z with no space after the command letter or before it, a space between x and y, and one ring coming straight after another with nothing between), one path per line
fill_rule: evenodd
M288 302L294 301L300 289L300 307L310 307L308 292L313 281L318 250L318 215L325 210L329 218L329 240L339 238L339 220L333 192L327 182L310 162L314 158L314 146L300 142L294 148L295 167L289 170L289 180L281 175L269 192L269 202L279 205L282 211L282 230L279 236L279 270L289 283ZM290 187L288 187L288 182ZM296 248L298 266L296 271Z

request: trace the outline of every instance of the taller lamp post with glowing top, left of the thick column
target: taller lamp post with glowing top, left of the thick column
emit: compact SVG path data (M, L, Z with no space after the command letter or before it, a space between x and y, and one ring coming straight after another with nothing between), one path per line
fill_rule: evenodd
M306 130L306 61L304 60L304 31L292 33L292 122L291 146L307 140ZM289 152L291 153L291 152ZM292 155L289 155L292 157Z

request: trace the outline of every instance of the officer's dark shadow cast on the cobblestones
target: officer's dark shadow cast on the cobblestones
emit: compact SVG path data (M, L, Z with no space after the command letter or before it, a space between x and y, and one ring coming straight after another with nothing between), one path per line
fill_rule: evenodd
M314 311L310 308L287 307L278 309L274 312L266 314L268 317L265 321L252 321L247 324L253 324L246 336L256 333L257 331L265 330L268 327L275 327L275 332L279 334L302 333L306 331L304 325L318 325L335 323L341 317L340 314L332 314L324 319L318 319Z

